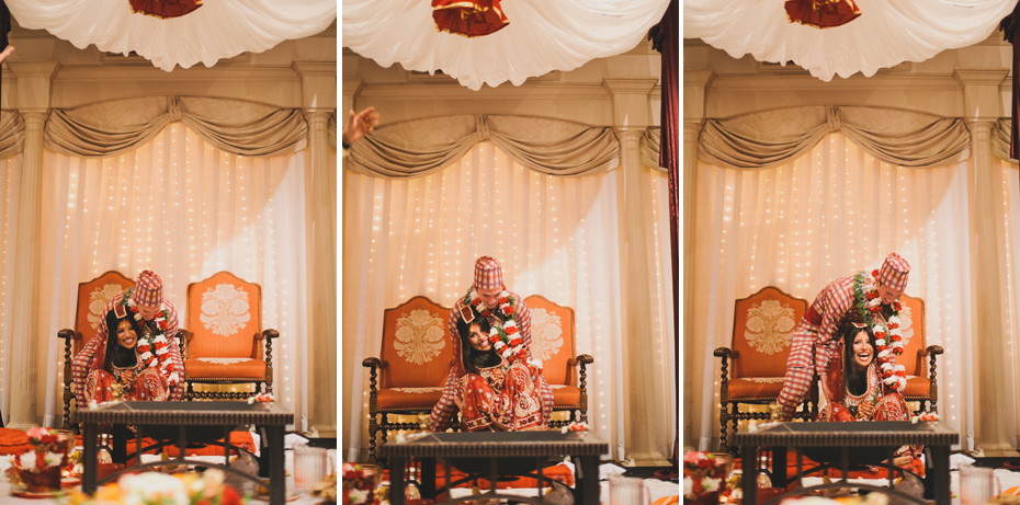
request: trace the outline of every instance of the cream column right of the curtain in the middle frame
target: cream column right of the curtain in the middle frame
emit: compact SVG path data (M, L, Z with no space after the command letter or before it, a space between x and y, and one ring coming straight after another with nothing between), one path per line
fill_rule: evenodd
M627 458L636 466L668 466L670 451L664 455L676 436L662 420L669 413L665 402L650 398L645 385L661 380L651 377L646 366L648 356L655 355L654 332L648 321L653 313L648 294L650 284L648 232L642 213L639 141L645 128L651 124L648 93L658 83L656 79L603 79L602 87L613 97L613 123L620 138L620 161L623 181L623 202L620 205L620 264L623 301L623 338L625 367L623 390L627 412L624 421ZM661 428L661 434L655 431ZM665 437L665 438L664 438ZM656 441L664 441L657 447Z

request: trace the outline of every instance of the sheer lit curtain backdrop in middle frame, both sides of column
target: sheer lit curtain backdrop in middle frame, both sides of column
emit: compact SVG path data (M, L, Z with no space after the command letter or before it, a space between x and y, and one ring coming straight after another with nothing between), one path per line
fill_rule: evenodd
M423 177L344 173L343 282L348 292L354 283L358 294L344 298L358 305L356 322L345 324L355 334L344 335L356 342L353 359L343 365L353 369L354 385L345 458L356 460L366 447L369 387L361 361L378 355L383 311L416 295L452 307L471 286L475 259L486 254L502 263L511 290L575 309L577 353L594 358L588 368L589 424L611 446L623 447L617 172L554 177L524 169L484 141L458 163ZM660 179L654 185L657 219L667 230ZM661 254L668 232L658 234L666 243L656 249ZM664 290L668 274L660 274ZM656 297L656 303L668 302ZM672 333L662 324L670 318L660 319L666 349ZM666 389L673 386L664 382L647 385L648 394L670 397ZM672 444L670 422L649 427L664 433L661 446Z

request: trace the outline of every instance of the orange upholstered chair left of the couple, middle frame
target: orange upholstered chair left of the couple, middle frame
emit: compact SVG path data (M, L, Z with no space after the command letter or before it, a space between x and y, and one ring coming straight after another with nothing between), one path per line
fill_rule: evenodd
M390 414L428 414L439 402L450 374L453 348L447 336L450 308L416 296L383 312L379 357L362 366L369 380L369 457L375 460L375 435L383 443L392 429L418 429L418 423L390 422ZM382 418L378 418L378 417Z

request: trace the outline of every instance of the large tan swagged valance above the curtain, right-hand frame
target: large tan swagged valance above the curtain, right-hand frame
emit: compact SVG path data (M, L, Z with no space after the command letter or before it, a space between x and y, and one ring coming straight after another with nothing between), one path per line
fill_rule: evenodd
M939 167L970 156L970 134L961 118L819 105L709 119L699 140L699 158L721 167L766 169L806 153L837 130L868 153L896 165Z

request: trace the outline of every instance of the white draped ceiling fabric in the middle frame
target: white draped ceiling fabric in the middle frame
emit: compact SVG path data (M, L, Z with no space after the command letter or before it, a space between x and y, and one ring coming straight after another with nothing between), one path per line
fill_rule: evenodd
M439 32L428 1L343 0L342 45L383 67L442 70L477 91L573 70L627 51L662 19L669 0L512 0L510 24L467 38Z

